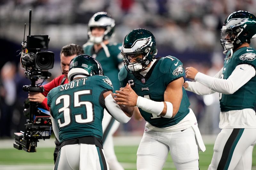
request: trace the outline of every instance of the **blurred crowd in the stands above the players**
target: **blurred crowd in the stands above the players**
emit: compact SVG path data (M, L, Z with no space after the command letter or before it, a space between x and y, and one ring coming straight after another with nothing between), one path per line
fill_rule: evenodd
M221 48L219 30L228 14L256 13L255 5L255 0L1 0L0 36L20 43L31 9L31 34L48 34L53 48L83 44L89 18L106 11L116 20L114 42L132 29L146 28L158 46L213 51Z

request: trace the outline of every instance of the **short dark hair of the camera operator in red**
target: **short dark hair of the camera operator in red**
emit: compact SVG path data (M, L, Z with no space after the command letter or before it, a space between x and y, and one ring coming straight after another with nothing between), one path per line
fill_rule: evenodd
M61 48L60 55L62 53L64 54L64 56L80 55L84 54L84 50L80 45L68 44Z

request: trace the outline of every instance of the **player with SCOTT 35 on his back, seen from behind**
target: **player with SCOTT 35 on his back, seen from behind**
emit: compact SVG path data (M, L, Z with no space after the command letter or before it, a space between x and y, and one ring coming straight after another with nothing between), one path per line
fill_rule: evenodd
M126 123L133 107L125 107L123 112L116 104L111 81L103 76L100 63L89 55L71 60L68 80L69 83L53 88L47 95L52 128L60 141L54 169L108 170L102 147L103 110Z

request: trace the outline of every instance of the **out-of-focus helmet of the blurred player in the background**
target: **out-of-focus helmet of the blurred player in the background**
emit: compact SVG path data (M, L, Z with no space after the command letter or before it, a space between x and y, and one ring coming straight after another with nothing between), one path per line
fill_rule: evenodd
M115 30L115 20L107 12L97 12L89 20L87 26L87 34L90 42L95 44L100 44L104 40L108 40L113 36ZM102 36L95 37L92 35L93 27L102 27L105 29L105 32Z

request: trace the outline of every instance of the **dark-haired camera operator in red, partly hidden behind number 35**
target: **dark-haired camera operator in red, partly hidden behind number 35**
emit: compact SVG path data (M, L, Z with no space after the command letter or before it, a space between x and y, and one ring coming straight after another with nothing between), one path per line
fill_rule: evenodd
M49 110L47 106L47 94L52 90L54 87L59 85L63 85L68 83L68 69L70 61L77 55L84 54L84 50L81 46L76 44L68 44L61 48L60 51L60 65L61 65L61 72L57 78L54 78L51 82L44 85L44 92L29 92L28 99L29 101L34 101L41 104L45 109ZM56 161L58 152L59 152L59 141L55 140L56 148L54 151L54 163Z

